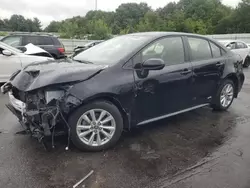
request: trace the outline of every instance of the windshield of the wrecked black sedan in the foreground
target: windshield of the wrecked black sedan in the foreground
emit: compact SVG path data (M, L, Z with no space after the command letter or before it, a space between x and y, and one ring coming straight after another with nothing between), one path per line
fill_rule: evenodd
M148 40L147 36L124 35L102 42L74 57L94 64L115 64Z

